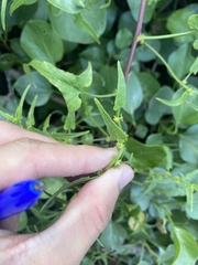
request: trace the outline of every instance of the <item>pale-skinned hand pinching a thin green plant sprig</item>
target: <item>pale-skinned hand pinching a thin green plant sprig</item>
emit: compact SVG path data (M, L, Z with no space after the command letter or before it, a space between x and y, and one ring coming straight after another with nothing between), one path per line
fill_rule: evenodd
M0 190L25 179L70 177L106 167L116 149L72 146L0 121ZM106 229L120 191L133 178L127 165L89 181L62 216L41 233L16 233L18 216L0 222L0 264L78 265Z

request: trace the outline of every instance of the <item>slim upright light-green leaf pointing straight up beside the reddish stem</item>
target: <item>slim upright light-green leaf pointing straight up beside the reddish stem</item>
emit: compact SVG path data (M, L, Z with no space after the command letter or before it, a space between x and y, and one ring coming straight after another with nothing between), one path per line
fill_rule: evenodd
M125 106L125 99L127 99L125 80L124 80L124 75L123 75L120 62L118 62L118 89L117 89L117 96L116 96L113 109L118 110L118 109L121 109L123 106Z

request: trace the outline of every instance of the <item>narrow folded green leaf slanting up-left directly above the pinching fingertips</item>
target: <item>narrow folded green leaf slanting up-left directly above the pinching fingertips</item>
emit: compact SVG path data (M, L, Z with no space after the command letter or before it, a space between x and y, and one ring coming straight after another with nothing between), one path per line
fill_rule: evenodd
M102 107L102 105L100 104L100 102L98 99L95 98L95 103L102 116L102 119L108 128L109 135L111 140L127 140L127 135L123 130L121 130L117 124L111 119L111 117L109 116L109 114L106 112L106 109Z

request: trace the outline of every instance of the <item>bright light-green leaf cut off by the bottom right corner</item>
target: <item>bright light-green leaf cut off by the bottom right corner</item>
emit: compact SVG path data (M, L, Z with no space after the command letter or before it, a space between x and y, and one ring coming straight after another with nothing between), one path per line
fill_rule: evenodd
M195 264L198 245L194 236L184 229L174 227L175 259L173 265Z

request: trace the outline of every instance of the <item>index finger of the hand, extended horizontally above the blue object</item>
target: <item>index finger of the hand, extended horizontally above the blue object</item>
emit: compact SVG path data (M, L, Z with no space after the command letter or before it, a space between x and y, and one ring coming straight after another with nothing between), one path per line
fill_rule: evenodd
M24 179L73 177L106 167L114 148L73 146L22 138L0 146L0 189Z

